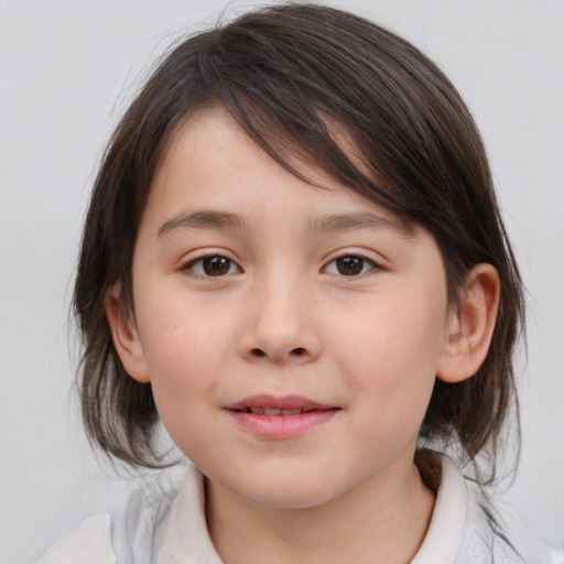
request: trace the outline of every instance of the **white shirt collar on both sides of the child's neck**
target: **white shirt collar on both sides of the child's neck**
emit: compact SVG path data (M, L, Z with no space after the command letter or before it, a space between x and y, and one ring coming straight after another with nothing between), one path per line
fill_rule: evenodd
M411 564L454 564L467 510L464 478L446 456L427 533ZM221 564L206 525L204 477L191 466L171 511L158 564Z

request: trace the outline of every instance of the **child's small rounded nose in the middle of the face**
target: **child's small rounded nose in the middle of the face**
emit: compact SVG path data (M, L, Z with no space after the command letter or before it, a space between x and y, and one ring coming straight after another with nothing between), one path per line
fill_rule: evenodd
M271 280L252 289L240 352L251 361L307 364L321 355L315 297L297 280Z

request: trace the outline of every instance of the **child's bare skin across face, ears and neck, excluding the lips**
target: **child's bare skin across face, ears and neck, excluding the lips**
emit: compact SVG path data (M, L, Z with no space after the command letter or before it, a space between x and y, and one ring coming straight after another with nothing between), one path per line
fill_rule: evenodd
M167 432L207 477L225 562L405 563L434 502L413 463L421 422L435 377L458 381L484 359L496 273L478 265L454 312L427 231L297 165L323 188L221 109L189 118L142 217L134 318L116 288L108 319L128 372L151 381ZM226 409L253 394L334 414L300 436L257 436Z

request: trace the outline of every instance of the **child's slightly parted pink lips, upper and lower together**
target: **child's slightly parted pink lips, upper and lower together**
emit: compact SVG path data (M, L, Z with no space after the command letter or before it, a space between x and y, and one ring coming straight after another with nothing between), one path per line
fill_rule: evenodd
M268 440L295 438L322 425L339 408L301 395L252 395L225 406L246 432Z

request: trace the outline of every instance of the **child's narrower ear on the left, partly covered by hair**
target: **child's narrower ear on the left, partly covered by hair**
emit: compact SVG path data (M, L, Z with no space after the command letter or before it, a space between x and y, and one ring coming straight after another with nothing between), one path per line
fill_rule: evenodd
M134 319L123 312L120 293L121 286L116 284L106 292L104 297L106 317L110 326L113 346L129 376L139 382L145 383L150 381L150 377L143 345L139 338Z

